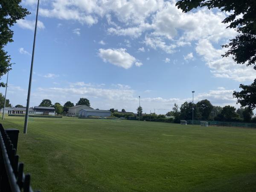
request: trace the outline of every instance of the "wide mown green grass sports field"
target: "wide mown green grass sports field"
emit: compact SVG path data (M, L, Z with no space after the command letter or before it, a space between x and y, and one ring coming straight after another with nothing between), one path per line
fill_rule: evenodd
M6 117L33 189L256 191L256 129L100 119Z

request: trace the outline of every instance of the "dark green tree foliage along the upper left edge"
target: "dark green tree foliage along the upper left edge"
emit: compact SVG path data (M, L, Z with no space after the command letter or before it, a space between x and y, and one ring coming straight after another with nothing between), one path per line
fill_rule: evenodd
M11 27L30 14L20 3L21 0L0 0L0 79L12 67L11 57L4 50L6 44L13 41ZM5 84L0 83L0 87L5 87Z

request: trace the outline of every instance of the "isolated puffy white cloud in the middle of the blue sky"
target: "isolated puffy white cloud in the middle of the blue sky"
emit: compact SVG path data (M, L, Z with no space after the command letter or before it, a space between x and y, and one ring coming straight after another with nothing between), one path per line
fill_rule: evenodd
M126 49L99 49L99 56L104 62L109 62L118 67L129 69L133 64L141 65L137 59L126 52Z

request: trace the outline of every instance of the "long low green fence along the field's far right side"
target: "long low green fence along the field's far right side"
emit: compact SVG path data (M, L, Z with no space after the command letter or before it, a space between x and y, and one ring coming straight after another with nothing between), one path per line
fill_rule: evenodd
M188 124L192 124L192 120L187 120ZM200 125L201 120L194 120L194 125ZM226 122L226 121L207 121L211 126L227 126L227 127L243 127L256 128L256 123L248 122Z

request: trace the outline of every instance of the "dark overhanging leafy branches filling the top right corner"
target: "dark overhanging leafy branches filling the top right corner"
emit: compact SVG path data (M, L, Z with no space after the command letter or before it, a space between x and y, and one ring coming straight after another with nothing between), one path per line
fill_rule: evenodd
M254 65L256 70L256 0L179 0L176 6L183 12L204 6L228 12L229 15L222 23L230 23L227 27L235 28L239 35L222 46L229 48L222 56L233 55L236 63ZM237 17L239 15L241 17Z

